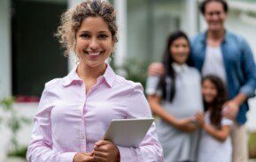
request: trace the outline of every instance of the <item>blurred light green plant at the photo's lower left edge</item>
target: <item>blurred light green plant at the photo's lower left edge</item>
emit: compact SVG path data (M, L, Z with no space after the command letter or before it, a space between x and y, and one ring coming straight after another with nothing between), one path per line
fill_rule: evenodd
M13 108L14 100L14 98L6 98L0 101L0 108L3 108L5 112L5 116L0 117L0 121L10 129L12 134L10 139L11 150L9 151L8 155L26 158L27 147L19 144L17 135L19 130L22 128L22 125L30 123L30 120L17 114Z

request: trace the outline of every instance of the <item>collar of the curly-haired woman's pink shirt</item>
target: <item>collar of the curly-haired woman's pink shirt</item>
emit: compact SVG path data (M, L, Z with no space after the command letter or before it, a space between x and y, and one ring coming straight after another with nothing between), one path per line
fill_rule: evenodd
M82 79L78 76L76 70L77 70L78 65L76 65L74 67L73 70L70 71L70 73L64 77L64 84L63 86L68 86L73 84L74 82L82 82ZM112 87L114 80L116 78L116 75L114 73L114 71L112 70L112 68L110 67L109 64L106 63L106 70L103 76L100 76L97 78L97 82L101 79L105 79L105 82L107 85L109 85L110 87Z

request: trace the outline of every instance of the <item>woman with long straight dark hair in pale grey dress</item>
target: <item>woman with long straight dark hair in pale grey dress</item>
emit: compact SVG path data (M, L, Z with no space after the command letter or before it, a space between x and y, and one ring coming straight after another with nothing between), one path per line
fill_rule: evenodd
M149 77L146 92L151 111L159 116L157 131L165 161L196 161L198 124L203 110L198 70L190 67L190 43L177 31L167 40L165 74ZM200 112L200 113L199 113Z

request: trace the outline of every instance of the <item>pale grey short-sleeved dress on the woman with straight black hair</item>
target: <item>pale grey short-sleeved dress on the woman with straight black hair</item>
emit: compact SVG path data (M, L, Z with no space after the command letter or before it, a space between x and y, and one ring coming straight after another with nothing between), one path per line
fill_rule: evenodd
M198 111L203 111L201 97L200 74L195 68L173 63L176 72L175 98L169 99L172 80L167 77L167 99L162 100L161 106L168 114L182 119L194 116ZM161 95L158 88L159 77L148 77L146 93ZM159 142L163 147L164 158L167 162L196 161L198 152L199 131L183 132L173 127L170 123L158 118L156 120Z

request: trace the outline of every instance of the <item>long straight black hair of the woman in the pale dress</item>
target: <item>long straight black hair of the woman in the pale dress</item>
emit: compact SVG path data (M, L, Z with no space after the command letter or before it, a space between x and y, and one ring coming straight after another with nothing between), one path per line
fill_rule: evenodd
M174 41L179 39L179 38L184 38L188 41L189 44L189 48L190 48L190 40L188 38L188 36L186 35L186 33L183 33L182 31L178 30L175 31L174 33L170 33L170 35L167 38L167 45L165 48L165 52L164 52L164 56L163 56L163 64L165 67L165 74L160 78L160 82L159 82L159 87L162 89L163 95L162 98L163 99L167 99L167 82L166 82L166 78L170 77L171 79L171 88L170 88L170 99L169 101L172 102L173 99L175 98L175 70L173 69L172 63L174 63L174 59L173 56L171 54L171 46L173 45ZM190 61L190 57L188 58L188 60L186 61L186 63L191 66L192 63Z

